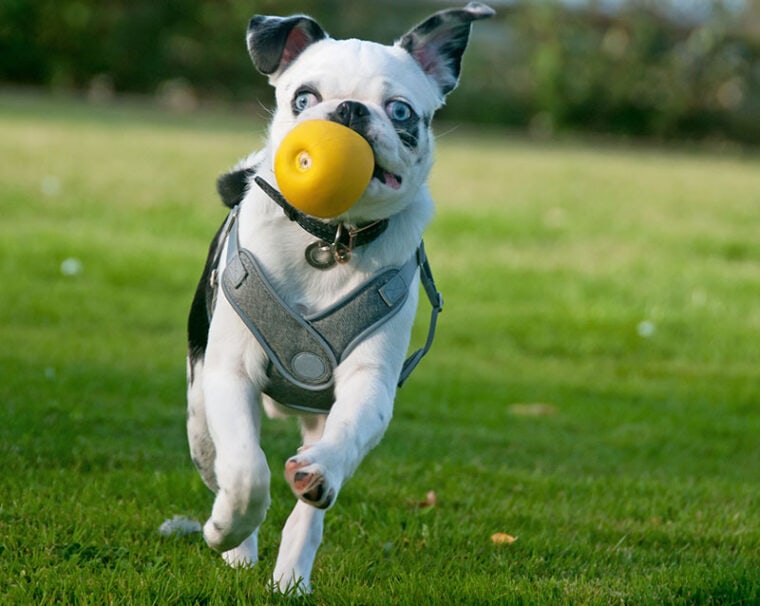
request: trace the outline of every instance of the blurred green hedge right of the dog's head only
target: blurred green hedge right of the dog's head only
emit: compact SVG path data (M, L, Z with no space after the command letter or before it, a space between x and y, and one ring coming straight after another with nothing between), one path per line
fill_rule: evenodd
M747 13L715 0L710 19L676 20L663 6L514 6L501 38L486 41L487 60L470 66L468 81L478 85L453 97L447 115L542 134L571 128L760 142L760 43Z

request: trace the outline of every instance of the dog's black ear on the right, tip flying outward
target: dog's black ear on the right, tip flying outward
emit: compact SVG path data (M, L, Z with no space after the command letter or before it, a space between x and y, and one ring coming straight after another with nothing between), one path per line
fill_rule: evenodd
M462 54L470 38L470 25L487 19L495 11L485 4L470 2L464 8L440 11L405 34L396 46L408 51L423 71L447 95L457 85Z

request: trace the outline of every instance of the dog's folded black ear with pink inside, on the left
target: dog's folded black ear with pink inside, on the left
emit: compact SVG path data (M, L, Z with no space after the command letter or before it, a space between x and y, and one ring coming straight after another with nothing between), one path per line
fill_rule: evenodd
M327 34L311 17L256 15L248 23L248 53L262 74L277 77L303 50Z

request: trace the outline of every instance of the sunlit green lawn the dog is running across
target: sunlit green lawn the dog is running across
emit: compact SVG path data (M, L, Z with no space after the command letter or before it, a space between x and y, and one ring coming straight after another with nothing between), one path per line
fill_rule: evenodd
M184 323L214 180L263 131L0 96L0 602L287 601L266 581L294 424L265 426L256 569L157 533L210 510ZM465 131L437 157L437 341L304 603L760 602L758 158Z

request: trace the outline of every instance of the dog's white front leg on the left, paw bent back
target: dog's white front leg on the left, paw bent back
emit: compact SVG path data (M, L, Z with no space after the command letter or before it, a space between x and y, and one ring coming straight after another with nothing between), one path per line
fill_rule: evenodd
M251 537L269 507L269 467L259 446L258 392L243 373L210 364L204 371L203 392L219 486L203 536L212 548L229 551ZM253 563L255 554L247 559Z

